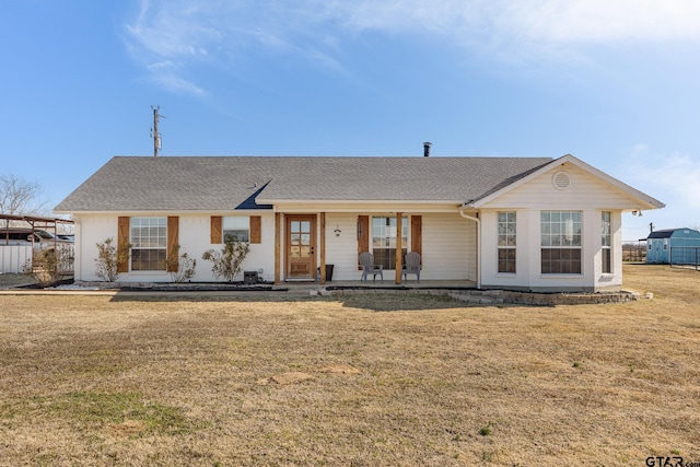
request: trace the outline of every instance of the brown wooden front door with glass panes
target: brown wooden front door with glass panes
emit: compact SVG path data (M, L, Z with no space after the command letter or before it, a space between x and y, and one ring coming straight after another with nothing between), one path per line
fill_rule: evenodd
M316 280L316 217L287 215L287 279Z

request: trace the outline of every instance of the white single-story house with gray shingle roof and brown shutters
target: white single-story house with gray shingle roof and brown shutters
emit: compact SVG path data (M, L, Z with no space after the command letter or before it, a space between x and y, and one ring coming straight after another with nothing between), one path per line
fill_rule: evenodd
M526 291L618 291L622 212L664 205L573 155L549 157L116 156L56 208L75 222L75 280L94 281L96 244L132 245L119 281L165 282L173 245L201 260L247 238L243 269L267 281L361 277L371 252L401 282ZM240 278L240 279L243 279Z

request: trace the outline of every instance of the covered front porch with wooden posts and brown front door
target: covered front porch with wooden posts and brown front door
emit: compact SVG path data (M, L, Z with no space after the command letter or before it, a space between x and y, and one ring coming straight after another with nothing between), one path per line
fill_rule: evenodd
M416 211L365 207L332 212L275 212L275 284L317 282L324 287L396 289L467 288L478 284L478 222L456 206ZM386 226L384 226L386 222ZM380 232L380 230L382 232ZM359 255L372 253L380 276L361 281ZM420 282L404 278L409 252L421 257ZM307 287L307 284L306 284Z

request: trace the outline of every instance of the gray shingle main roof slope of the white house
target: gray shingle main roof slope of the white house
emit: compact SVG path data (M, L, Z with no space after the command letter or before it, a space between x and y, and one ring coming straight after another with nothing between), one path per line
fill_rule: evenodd
M57 212L220 211L270 200L479 199L549 157L117 156Z

